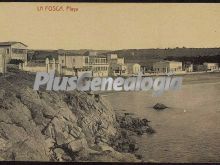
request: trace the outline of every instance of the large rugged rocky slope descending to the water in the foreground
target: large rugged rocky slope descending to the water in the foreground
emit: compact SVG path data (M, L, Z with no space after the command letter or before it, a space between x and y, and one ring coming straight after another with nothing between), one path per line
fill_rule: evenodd
M101 96L33 91L35 75L0 77L0 159L140 162L130 135L153 133L148 120L115 114Z

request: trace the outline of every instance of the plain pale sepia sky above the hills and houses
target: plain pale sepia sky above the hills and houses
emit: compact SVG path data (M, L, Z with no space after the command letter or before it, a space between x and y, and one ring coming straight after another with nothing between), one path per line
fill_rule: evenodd
M40 6L64 11L38 11ZM3 41L29 49L220 47L220 4L4 2Z

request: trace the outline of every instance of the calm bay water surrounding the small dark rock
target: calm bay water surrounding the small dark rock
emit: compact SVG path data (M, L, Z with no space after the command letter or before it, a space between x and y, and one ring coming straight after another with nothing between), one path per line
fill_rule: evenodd
M116 111L151 121L157 133L137 138L144 161L220 162L220 81L215 80L185 83L180 91L160 97L151 92L122 92L106 98ZM157 102L170 108L155 111L152 106Z

